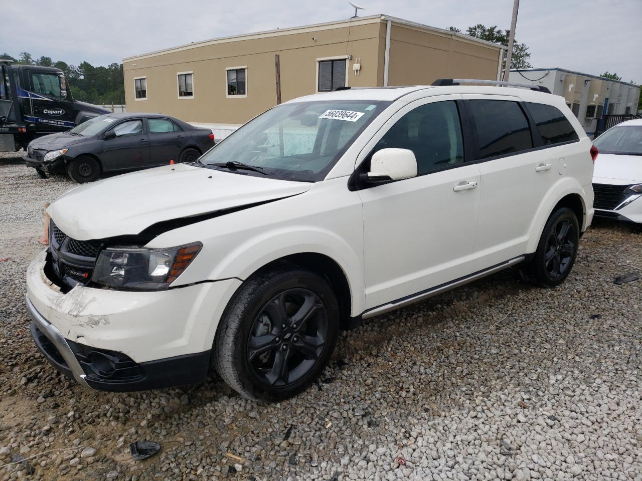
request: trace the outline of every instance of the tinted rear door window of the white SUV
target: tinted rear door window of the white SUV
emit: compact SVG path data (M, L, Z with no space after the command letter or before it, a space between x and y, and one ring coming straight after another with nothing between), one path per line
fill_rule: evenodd
M496 157L533 148L528 121L517 102L469 100L480 158Z

